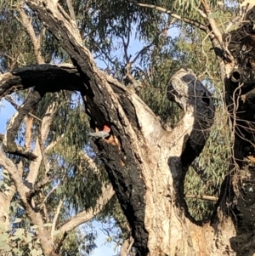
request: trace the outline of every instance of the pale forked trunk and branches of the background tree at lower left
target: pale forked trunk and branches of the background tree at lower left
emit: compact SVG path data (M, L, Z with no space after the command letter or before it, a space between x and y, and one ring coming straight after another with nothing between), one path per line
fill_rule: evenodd
M46 120L42 119L42 125L43 122L48 122L48 118L51 118L50 114L50 111L48 111L48 115L44 117ZM48 128L45 128L42 131L42 137L47 134L47 130ZM37 151L37 147L38 142L35 146L35 151ZM105 204L111 200L111 197L115 194L115 192L113 191L111 185L103 185L102 195L99 196L94 209L91 208L86 211L84 210L81 213L78 213L75 217L71 219L66 219L65 223L60 223L60 227L56 228L56 221L58 220L59 209L61 207L61 204L59 204L59 208L57 208L54 213L52 226L48 228L47 226L45 226L45 224L50 221L48 220L48 222L46 222L46 220L44 219L45 217L47 217L44 216L45 212L42 213L42 211L40 210L41 206L36 205L33 201L33 196L35 196L35 194L37 193L37 191L40 190L43 184L47 183L46 179L42 179L41 182L36 182L36 180L34 180L37 178L37 172L38 168L40 168L41 166L42 158L43 156L41 156L40 152L40 156L37 157L34 162L31 162L29 174L27 175L26 180L24 180L22 175L22 166L16 167L14 162L8 159L8 157L5 156L2 151L0 151L0 166L6 169L11 179L14 181L14 185L9 187L9 190L5 191L5 194L3 194L2 192L0 194L0 202L2 202L3 205L3 209L0 211L0 225L1 227L2 225L4 225L3 229L1 229L0 232L5 232L9 228L7 211L10 207L10 202L12 197L14 196L14 192L17 191L20 196L21 202L23 203L23 206L26 210L26 214L31 219L31 224L37 225L37 230L35 230L35 232L37 233L37 237L39 238L42 252L44 253L44 255L47 256L59 256L59 250L63 245L67 234L71 230L75 229L78 225L81 225L88 220L93 219L95 214L99 213L102 208L105 207ZM91 169L95 168L95 165L93 163L94 162L90 162ZM43 202L41 205L43 206ZM45 208L44 210L47 213L47 208ZM58 236L58 240L55 240L56 236Z

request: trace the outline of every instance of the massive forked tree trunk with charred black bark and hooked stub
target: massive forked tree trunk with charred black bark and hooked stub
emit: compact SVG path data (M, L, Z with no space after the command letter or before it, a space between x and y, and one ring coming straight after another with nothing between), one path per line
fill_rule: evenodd
M34 84L37 84L37 91L41 91L43 87L46 91L65 88L81 92L87 106L86 111L91 117L92 128L101 129L105 124L111 127L111 137L98 139L95 145L101 152L100 156L105 162L116 196L132 227L134 246L138 253L151 256L219 256L235 255L236 252L238 255L252 255L254 251L245 254L254 233L252 214L246 215L246 211L250 211L255 200L252 196L254 174L252 168L246 168L241 162L248 152L253 152L249 144L253 141L252 131L242 131L244 136L241 138L233 130L233 164L236 172L229 174L224 181L211 222L203 225L196 223L190 217L184 202L184 175L206 143L208 128L213 122L211 94L197 81L192 71L178 71L169 81L168 98L178 102L184 110L184 117L174 129L167 125L163 127L136 94L96 68L92 55L87 48L82 47L77 26L73 21L66 20L63 9L56 8L56 3L49 1L26 2L70 54L79 74L72 72L71 68L50 65L41 65L41 73L33 72L40 69L40 66L16 71L13 75L2 76L0 96L9 94L16 88L28 88ZM252 34L253 31L250 32ZM238 71L230 73L237 64L240 65ZM233 97L230 96L234 94L235 104L236 100L240 104L239 95L249 92L253 81L241 81L239 74L243 77L251 74L252 77L252 66L246 64L244 67L238 57L235 60L225 60L224 65L229 95L226 102L232 103ZM48 88L45 88L45 81L48 81L45 74L50 72L58 72L59 76L50 77L49 81L54 87L50 88L48 83ZM61 72L70 78L71 84L67 80L63 84ZM40 82L34 83L39 76ZM71 80L71 77L76 80ZM239 82L244 82L243 88L246 91L240 91L241 88L239 91L235 90L240 85ZM246 111L238 115L245 120L241 124L244 126L249 121L250 125L254 119L252 91L246 94L246 101L239 108L229 108L232 122L235 122L234 129L237 122L234 117L237 117L236 111L240 108ZM247 113L251 116L246 115ZM246 140L248 141L244 143ZM3 139L3 143L6 151L11 151L6 139ZM246 193L242 196L238 190L240 174L246 179L243 186ZM250 200L249 203L243 201L246 198ZM227 207L230 211L225 211Z

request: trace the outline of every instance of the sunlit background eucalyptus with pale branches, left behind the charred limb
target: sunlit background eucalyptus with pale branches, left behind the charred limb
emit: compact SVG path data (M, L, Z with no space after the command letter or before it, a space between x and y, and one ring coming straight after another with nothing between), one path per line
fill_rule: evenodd
M2 73L27 63L67 61L65 52L40 21L27 13L27 9L20 8L20 3L12 4L5 3L1 11ZM4 99L19 111L30 93L30 90L20 91ZM82 113L83 108L78 94L61 91L45 95L40 104L33 105L26 118L20 120L15 140L28 151L37 152L39 157L36 162L30 162L22 155L8 155L15 164L19 163L20 173L15 178L1 168L1 255L42 255L40 239L54 244L55 251L61 255L88 255L96 247L96 232L91 228L81 232L77 227L94 219L114 191L102 165L96 166L88 156L89 151L84 151L88 145L84 133L88 119ZM68 124L62 118L66 118ZM81 133L82 136L77 136ZM22 193L14 185L19 179L24 180L23 193L26 193L26 203L33 208L33 219L29 219ZM43 230L42 236L37 236L38 229Z

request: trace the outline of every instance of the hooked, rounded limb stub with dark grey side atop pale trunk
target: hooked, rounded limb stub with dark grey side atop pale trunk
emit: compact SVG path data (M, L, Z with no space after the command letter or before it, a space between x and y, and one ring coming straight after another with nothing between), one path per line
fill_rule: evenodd
M195 157L201 153L209 135L209 128L212 126L214 117L212 94L198 81L193 71L181 69L171 78L167 96L169 100L173 100L174 97L185 111L185 115L192 113L195 117L189 142L193 154L182 156L183 165L189 167Z

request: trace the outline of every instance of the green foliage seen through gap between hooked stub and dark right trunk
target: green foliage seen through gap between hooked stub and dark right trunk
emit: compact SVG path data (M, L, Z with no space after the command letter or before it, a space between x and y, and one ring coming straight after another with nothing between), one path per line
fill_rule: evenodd
M218 107L207 144L186 175L184 186L186 195L214 196L216 199L219 196L231 156L227 119L227 111L223 110L223 106ZM191 215L197 220L209 218L215 205L213 201L196 198L187 198L186 202Z

